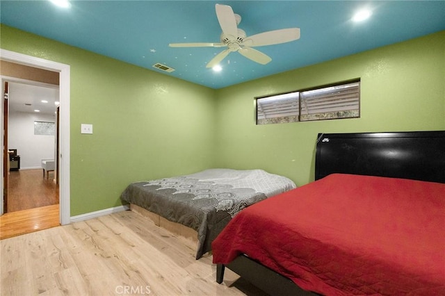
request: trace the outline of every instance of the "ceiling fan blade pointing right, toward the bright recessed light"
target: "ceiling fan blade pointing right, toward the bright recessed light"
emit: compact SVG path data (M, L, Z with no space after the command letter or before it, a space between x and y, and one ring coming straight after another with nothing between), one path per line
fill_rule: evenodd
M300 28L282 28L244 38L243 44L248 47L262 47L264 45L291 42L300 38Z

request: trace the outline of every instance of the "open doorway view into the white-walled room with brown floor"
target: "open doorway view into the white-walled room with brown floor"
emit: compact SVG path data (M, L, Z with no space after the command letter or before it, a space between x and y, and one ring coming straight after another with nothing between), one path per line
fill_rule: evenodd
M22 76L35 68L1 62L2 72L21 69ZM58 151L58 72L39 69L41 83L25 79L6 79L8 104L5 110L5 135L9 152L9 170L4 179L3 213L58 204L56 161ZM28 74L29 76L29 74ZM45 78L45 76L47 78ZM6 84L5 83L5 84ZM6 114L8 111L8 114ZM43 170L42 160L45 165ZM51 166L51 167L50 167Z

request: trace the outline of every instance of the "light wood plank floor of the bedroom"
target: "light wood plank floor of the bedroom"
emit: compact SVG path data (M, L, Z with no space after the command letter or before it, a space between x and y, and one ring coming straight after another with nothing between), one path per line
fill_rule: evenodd
M0 241L1 295L264 295L131 211Z

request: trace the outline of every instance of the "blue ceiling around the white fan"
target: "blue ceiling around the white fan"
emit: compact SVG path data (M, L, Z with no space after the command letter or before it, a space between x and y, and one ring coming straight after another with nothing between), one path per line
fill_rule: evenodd
M233 52L213 72L223 48L173 48L169 43L220 42L215 4L232 6L247 35L300 28L299 40L255 47L266 65ZM371 17L351 18L361 8ZM224 88L445 29L445 1L1 1L2 24L145 67L209 88ZM428 50L428 49L426 49ZM175 69L165 73L161 63Z

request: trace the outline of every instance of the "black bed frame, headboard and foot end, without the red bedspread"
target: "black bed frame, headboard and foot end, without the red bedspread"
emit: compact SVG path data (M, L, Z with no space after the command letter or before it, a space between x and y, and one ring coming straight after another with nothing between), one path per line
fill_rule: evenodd
M315 179L332 173L445 183L445 131L319 133ZM270 295L316 295L244 254L217 265L218 283L226 267Z

